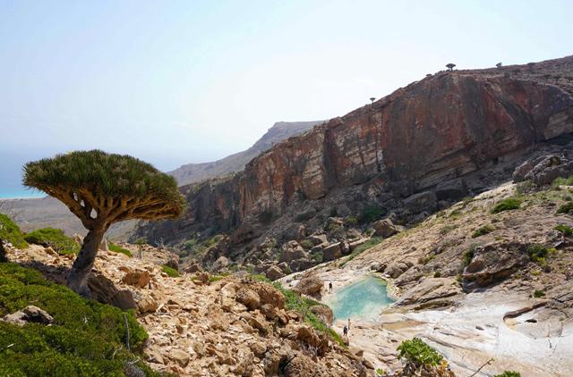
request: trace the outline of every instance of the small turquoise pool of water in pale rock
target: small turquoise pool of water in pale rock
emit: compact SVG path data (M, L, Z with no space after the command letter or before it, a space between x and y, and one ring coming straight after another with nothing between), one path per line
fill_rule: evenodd
M329 300L328 305L336 319L360 318L374 321L380 315L381 309L392 303L394 300L388 297L386 282L368 276L340 289Z

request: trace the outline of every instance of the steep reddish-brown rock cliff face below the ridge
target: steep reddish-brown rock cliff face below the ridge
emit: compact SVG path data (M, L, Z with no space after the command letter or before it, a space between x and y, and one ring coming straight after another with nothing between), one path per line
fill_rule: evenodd
M483 190L495 178L488 169L572 132L570 76L573 57L429 75L287 139L233 178L182 188L184 219L142 231L181 239L195 229L238 228L240 243L293 208L333 205L333 197L350 206L373 200L406 208L409 219L430 213L440 200Z

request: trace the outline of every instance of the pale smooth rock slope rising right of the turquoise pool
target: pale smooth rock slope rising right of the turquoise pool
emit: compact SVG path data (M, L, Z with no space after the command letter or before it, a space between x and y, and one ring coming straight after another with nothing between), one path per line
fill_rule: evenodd
M307 276L331 281L334 292L322 291L327 303L364 276L388 281L397 303L376 321L353 319L350 331L350 344L363 348L364 357L387 372L400 367L396 344L416 336L446 356L457 375L472 375L494 359L475 375L514 370L524 377L569 376L572 194L568 185L504 184L360 255L281 281L293 287ZM507 198L517 200L517 209L493 214ZM340 331L345 323L338 320L335 328Z

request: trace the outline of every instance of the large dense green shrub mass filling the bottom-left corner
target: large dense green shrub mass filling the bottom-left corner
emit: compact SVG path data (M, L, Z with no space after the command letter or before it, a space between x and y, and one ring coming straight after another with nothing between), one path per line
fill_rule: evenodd
M0 264L0 316L29 305L46 310L54 323L19 327L0 322L0 375L120 376L126 362L138 359L126 349L124 315L132 349L148 338L133 311L86 300L35 270ZM141 362L136 365L158 375Z

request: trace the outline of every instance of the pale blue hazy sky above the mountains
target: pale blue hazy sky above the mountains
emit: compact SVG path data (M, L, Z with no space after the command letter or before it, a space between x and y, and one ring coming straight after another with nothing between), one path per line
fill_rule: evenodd
M0 158L210 161L445 63L573 54L572 18L573 1L0 0Z

